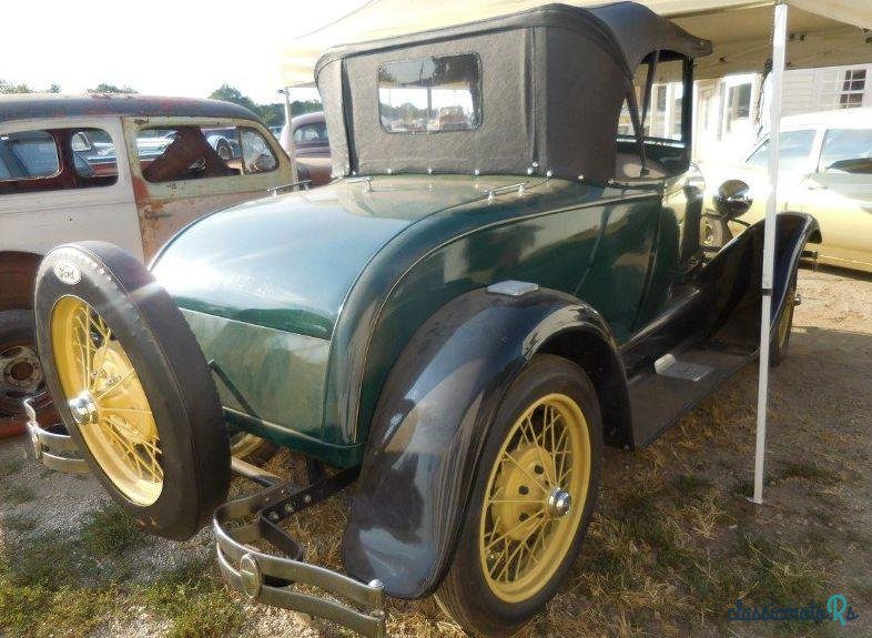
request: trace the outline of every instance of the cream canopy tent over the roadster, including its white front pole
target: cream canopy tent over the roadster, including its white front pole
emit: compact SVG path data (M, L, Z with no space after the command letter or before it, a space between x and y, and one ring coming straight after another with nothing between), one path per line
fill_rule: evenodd
M595 7L608 0L562 0ZM754 503L762 503L769 389L769 341L779 170L779 122L785 69L872 62L872 0L637 0L689 33L711 40L696 77L762 71L772 61L769 95L772 189L767 202L762 321L754 465ZM311 87L321 53L331 47L429 31L524 11L547 0L369 0L347 16L290 42L283 52L285 87Z

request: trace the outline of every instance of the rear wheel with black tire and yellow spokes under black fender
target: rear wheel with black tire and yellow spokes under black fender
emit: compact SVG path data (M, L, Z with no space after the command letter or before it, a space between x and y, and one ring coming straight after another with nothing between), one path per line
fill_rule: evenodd
M599 404L574 363L539 355L491 424L454 561L436 598L464 629L509 635L557 593L594 510Z

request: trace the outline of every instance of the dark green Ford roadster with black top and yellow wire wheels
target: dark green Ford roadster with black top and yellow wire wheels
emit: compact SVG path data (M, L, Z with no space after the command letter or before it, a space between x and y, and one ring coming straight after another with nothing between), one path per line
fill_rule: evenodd
M332 184L199 220L150 271L100 243L42 262L72 438L32 423L38 453L154 534L213 517L262 602L377 636L385 593L436 595L516 630L580 550L604 444L648 444L756 355L762 226L703 263L691 103L652 100L708 52L629 2L328 51ZM775 356L815 232L780 215ZM268 483L236 432L333 469L225 503L232 467ZM282 520L355 479L347 575L304 563Z

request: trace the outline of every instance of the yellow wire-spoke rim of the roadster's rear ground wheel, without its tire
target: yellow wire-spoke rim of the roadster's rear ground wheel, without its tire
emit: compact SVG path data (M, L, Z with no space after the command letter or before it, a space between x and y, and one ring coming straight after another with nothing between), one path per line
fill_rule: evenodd
M565 394L543 396L510 427L490 469L478 538L497 598L520 602L550 583L581 521L590 455L585 415Z

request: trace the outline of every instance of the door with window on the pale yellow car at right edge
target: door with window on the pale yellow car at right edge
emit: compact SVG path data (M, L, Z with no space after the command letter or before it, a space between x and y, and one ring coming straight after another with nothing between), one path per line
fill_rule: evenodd
M821 261L872 272L872 128L829 129L798 192L821 227Z

